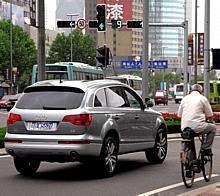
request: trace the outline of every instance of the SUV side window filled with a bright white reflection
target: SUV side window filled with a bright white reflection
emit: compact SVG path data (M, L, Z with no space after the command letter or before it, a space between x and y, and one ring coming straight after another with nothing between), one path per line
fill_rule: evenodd
M123 92L121 91L121 87L114 86L110 88L106 88L106 96L109 107L128 107L127 101L123 97Z

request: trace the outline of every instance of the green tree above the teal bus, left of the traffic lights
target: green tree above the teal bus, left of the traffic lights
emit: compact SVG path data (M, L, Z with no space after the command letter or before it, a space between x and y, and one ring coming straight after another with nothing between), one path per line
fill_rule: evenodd
M82 31L76 29L65 36L64 33L58 34L53 41L47 63L55 63L59 61L71 61L71 36L72 36L72 52L73 61L88 63L95 65L96 49L94 41L89 34L83 35Z

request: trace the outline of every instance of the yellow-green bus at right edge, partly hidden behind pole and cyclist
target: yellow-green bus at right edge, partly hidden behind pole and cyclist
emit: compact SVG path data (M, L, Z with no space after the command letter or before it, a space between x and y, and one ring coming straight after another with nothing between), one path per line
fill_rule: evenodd
M198 81L204 89L204 81ZM203 90L204 91L204 90ZM220 102L220 81L210 80L210 103L216 104Z

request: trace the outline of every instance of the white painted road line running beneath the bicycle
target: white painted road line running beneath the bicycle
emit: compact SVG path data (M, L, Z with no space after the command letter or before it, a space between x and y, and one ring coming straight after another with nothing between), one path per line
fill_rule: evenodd
M218 174L212 174L212 178L217 177L217 176L219 176L219 175ZM203 177L195 178L194 182L198 182L198 181L201 181L201 180L204 180L204 178ZM152 191L149 191L149 192L146 192L146 193L142 193L138 196L149 196L149 195L153 195L153 194L156 194L156 193L167 191L169 189L173 189L173 188L176 188L176 187L179 187L179 186L184 186L183 182L180 182L180 183L177 183L177 184L172 184L172 185L162 187L162 188L159 188L159 189L155 189L155 190L152 190Z

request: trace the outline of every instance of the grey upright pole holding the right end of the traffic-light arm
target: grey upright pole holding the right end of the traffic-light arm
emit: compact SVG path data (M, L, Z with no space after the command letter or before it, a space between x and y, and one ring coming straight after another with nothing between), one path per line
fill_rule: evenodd
M184 22L184 64L183 64L183 70L184 70L184 96L187 95L188 88L187 88L187 78L188 78L188 21L186 20Z

